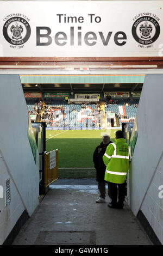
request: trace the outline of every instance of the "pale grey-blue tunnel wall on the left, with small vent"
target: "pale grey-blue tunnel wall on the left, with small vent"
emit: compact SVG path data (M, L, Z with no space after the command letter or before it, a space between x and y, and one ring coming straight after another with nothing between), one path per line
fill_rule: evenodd
M28 140L28 110L18 75L0 75L0 245L22 212L31 216L39 204L39 153L36 164ZM5 206L5 181L11 202Z

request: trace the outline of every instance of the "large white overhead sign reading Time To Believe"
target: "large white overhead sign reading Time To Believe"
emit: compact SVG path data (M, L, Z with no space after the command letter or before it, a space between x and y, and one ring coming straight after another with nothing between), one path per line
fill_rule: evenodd
M0 57L163 55L162 1L0 1Z

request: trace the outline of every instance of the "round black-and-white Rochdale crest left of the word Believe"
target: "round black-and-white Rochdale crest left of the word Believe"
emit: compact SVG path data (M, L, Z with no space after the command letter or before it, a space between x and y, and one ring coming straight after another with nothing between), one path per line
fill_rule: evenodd
M27 20L22 17L11 17L3 26L3 35L11 45L22 45L30 37L31 29Z

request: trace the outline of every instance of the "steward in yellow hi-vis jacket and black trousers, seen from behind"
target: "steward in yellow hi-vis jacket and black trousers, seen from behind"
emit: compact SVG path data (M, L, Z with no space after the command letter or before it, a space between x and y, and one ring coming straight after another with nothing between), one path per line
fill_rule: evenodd
M123 138L123 132L116 132L116 141L106 148L103 155L103 161L106 166L105 180L110 183L111 204L110 208L123 208L125 196L125 180L129 169L129 147L126 139ZM118 203L117 203L117 185L118 185Z

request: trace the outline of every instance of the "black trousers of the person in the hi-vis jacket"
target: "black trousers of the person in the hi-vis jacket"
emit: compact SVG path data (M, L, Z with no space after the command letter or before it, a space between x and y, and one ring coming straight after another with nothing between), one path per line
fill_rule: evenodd
M109 186L108 188L110 189L110 198L111 198L111 203L115 204L117 203L117 199L118 199L118 203L119 204L123 204L124 202L124 197L126 194L126 182L122 183L122 184L116 184L116 183L112 183L112 182L108 182Z

